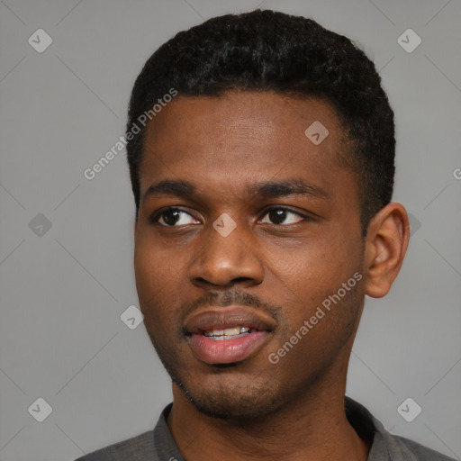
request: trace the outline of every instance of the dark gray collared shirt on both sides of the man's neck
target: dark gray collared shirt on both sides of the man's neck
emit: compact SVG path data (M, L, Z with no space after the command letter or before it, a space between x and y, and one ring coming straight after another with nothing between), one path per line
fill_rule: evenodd
M167 426L172 403L154 430L79 457L76 461L185 461ZM371 443L367 461L455 461L427 447L392 435L359 403L346 397L346 414L357 434Z

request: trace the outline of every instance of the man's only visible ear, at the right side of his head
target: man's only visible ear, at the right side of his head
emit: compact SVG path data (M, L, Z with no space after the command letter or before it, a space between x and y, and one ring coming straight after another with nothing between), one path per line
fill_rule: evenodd
M410 240L410 223L402 203L389 203L375 214L366 231L365 293L382 298L402 267Z

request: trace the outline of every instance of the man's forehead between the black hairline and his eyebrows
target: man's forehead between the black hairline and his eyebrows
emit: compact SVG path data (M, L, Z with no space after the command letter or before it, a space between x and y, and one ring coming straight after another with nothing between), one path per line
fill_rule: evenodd
M252 178L304 176L322 187L343 170L337 159L344 133L334 107L319 99L267 92L176 96L149 122L140 194L154 179L185 175L226 183L229 193Z

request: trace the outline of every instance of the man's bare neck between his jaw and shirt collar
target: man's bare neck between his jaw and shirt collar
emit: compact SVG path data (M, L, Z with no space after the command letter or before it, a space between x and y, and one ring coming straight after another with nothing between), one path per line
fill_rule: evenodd
M205 415L174 384L168 426L187 461L364 461L369 447L346 418L347 369L340 368L343 369L333 366L332 379L325 376L318 380L295 401L265 416L246 420Z

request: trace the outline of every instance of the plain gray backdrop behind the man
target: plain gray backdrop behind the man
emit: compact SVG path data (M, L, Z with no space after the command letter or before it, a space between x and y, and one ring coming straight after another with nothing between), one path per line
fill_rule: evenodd
M169 402L143 325L120 319L137 305L124 152L92 181L83 172L123 134L131 86L153 50L203 19L259 4L0 0L2 461L72 460L151 429ZM348 395L393 432L459 459L461 3L261 8L359 41L380 69L397 122L394 200L411 212L413 235L392 293L366 300ZM39 28L53 40L42 53L28 43ZM397 42L408 28L422 40L411 53ZM50 230L32 221L39 213ZM28 411L39 397L52 407L43 422ZM422 408L412 422L397 411L407 397Z

